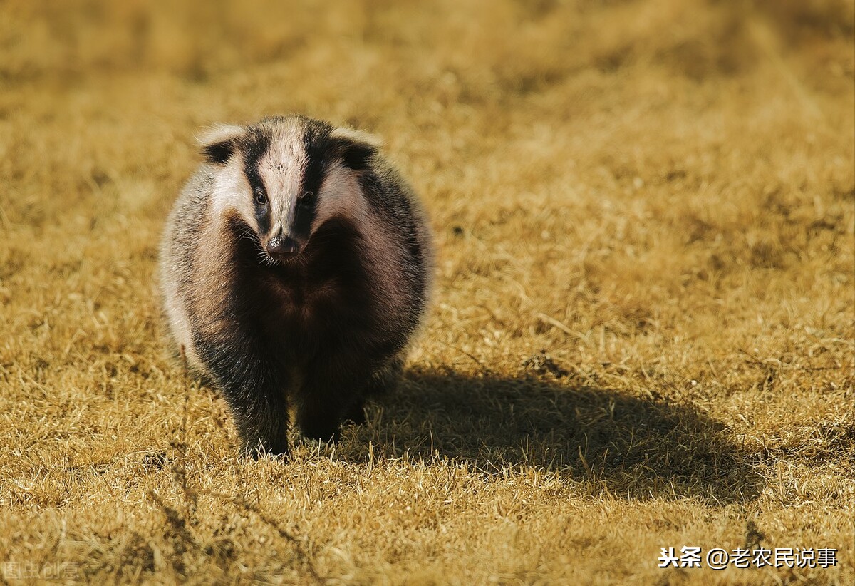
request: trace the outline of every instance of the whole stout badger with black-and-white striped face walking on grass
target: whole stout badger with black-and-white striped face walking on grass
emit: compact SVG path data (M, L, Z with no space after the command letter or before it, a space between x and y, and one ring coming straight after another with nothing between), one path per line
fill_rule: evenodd
M221 125L168 216L162 302L176 349L219 388L245 453L293 423L335 439L396 381L430 297L416 193L372 135L303 115Z

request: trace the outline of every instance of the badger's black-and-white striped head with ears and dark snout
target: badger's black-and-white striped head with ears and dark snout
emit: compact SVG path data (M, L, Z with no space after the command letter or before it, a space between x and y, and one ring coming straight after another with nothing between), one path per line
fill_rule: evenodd
M201 142L215 167L215 214L237 214L265 263L298 257L329 217L360 215L358 175L378 148L367 134L298 115L216 127Z

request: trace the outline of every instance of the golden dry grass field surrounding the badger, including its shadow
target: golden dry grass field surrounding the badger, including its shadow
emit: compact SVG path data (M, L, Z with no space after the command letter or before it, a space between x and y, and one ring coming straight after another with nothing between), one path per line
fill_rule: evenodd
M853 35L852 0L0 3L0 582L852 584ZM436 291L368 423L254 461L157 246L200 130L287 112L386 140Z

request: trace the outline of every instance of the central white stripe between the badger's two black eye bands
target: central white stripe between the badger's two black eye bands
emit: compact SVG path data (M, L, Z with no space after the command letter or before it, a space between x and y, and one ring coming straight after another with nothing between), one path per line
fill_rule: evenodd
M277 128L268 151L258 161L258 175L268 192L270 228L276 234L294 222L296 200L303 185L307 157L297 124Z

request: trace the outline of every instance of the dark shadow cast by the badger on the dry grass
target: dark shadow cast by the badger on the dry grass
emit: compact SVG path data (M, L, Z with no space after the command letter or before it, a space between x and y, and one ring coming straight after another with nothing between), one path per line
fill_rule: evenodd
M728 428L690 405L534 377L410 372L368 410L346 459L435 458L486 472L537 466L632 499L757 497Z

